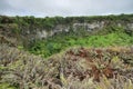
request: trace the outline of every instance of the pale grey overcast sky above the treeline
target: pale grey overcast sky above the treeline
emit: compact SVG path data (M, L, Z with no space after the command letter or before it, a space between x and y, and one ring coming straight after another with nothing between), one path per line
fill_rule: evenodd
M0 0L7 16L101 16L133 13L133 0Z

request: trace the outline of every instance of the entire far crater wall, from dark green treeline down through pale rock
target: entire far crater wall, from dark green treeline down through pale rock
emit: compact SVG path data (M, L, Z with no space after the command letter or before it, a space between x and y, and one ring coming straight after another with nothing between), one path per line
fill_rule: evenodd
M133 34L133 14L108 17L72 17L72 18L33 18L0 17L0 39L3 37L14 43L30 42L34 39L47 39L59 33L84 31L89 36L103 29L124 29ZM104 30L103 30L104 31ZM84 33L82 36L84 36Z

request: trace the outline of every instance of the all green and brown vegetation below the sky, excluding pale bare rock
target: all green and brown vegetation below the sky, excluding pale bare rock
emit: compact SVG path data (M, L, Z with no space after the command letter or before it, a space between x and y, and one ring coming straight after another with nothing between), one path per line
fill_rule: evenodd
M71 28L30 40L27 33L96 21L104 21L105 27L91 33ZM0 89L132 89L133 30L117 27L117 22L132 23L133 14L0 16Z

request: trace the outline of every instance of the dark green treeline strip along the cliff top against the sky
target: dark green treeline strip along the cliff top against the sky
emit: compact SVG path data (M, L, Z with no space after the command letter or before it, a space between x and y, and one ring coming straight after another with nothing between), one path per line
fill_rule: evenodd
M3 23L14 23L19 26L19 30L24 28L29 29L45 29L50 30L57 24L71 24L74 22L93 22L93 21L108 21L115 24L115 22L132 22L133 14L120 14L120 16L92 16L92 17L45 17L45 18L34 18L31 17L6 17L0 16L0 24Z

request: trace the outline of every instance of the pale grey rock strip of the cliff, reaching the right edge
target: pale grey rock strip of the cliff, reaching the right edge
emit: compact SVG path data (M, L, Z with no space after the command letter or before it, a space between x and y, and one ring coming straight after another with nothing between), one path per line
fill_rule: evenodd
M48 37L52 37L57 33L60 33L60 32L71 32L71 31L79 31L79 30L85 30L86 32L89 33L92 33L92 32L96 32L99 30L102 30L106 27L117 27L117 28L123 28L126 32L133 32L133 22L127 22L127 23L121 23L121 22L116 22L115 24L112 24L112 23L106 23L105 21L96 21L96 22L76 22L76 23L72 23L70 26L65 26L65 24L58 24L55 26L53 29L51 29L50 31L47 31L45 29L43 30L40 30L40 29L37 29L35 32L34 32L34 36L32 38L35 38L35 39L45 39ZM28 31L28 34L32 34L30 31Z

